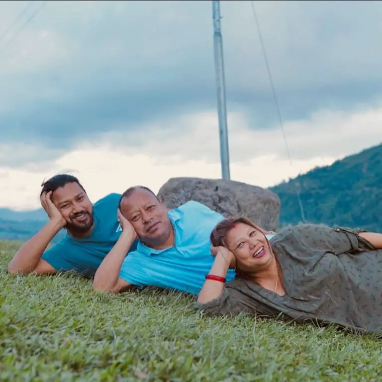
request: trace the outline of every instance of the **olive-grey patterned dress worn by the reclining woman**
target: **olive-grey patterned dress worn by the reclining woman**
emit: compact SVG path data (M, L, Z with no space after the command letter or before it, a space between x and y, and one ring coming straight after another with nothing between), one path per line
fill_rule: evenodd
M283 319L300 323L382 333L382 250L359 232L317 224L286 227L270 241L286 295L235 279L218 298L196 306L210 315L282 313Z

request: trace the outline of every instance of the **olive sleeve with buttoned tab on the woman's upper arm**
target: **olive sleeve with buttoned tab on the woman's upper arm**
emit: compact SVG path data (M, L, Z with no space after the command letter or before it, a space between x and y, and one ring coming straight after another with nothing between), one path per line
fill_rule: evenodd
M316 250L335 255L375 250L368 240L359 236L361 232L366 231L347 227L332 228L324 224L299 224L286 228L281 236L293 248L303 246L307 254Z

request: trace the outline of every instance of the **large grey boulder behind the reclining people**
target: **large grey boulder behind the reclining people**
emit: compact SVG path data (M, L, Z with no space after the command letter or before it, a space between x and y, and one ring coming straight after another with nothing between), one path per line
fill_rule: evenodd
M221 179L172 178L158 192L168 208L195 200L225 217L245 216L275 231L279 226L280 198L272 191Z

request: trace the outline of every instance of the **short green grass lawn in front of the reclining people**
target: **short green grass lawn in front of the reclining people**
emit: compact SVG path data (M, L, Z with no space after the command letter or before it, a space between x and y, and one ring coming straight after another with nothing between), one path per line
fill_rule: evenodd
M381 341L253 317L208 318L176 292L94 293L76 276L18 277L0 242L1 381L370 381Z

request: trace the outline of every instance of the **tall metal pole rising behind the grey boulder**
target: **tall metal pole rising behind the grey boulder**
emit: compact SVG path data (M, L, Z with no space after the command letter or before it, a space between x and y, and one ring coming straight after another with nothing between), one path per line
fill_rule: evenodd
M225 100L225 79L223 61L223 38L220 25L220 1L212 1L213 45L215 52L217 112L219 118L220 158L222 178L229 180L229 150L227 131L227 106Z

